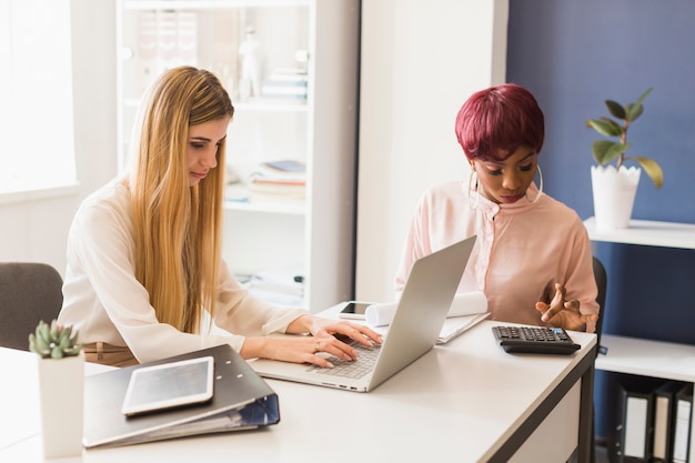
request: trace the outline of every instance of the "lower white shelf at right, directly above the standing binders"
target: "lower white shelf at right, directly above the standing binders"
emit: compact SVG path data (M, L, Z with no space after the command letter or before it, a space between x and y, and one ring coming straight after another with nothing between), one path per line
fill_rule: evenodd
M596 369L695 383L695 345L604 334Z

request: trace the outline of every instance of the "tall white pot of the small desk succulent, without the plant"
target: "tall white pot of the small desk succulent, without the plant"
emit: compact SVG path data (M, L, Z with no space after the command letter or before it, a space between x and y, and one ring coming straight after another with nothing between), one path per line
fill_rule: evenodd
M43 456L82 455L84 353L39 359L39 395Z

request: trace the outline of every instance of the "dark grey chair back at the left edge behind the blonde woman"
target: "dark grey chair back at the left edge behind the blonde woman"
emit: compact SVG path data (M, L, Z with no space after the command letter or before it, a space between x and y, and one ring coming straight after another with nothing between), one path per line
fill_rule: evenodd
M29 350L29 333L39 321L58 318L62 276L37 262L0 262L0 345Z

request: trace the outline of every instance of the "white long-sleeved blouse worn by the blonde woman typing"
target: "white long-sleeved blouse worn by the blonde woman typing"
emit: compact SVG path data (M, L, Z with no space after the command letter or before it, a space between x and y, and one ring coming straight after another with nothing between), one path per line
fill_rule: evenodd
M92 203L81 209L70 232L63 309L67 319L72 311L72 318L85 326L83 342L125 344L140 362L223 343L241 350L244 335L183 333L158 321L148 291L134 278L133 227L128 211L109 202ZM233 286L233 281L223 286L226 304L221 313L235 315L230 316L233 323L222 326L228 331L239 329L238 333L256 335L262 329L254 329L254 324L273 325L275 321L282 325L290 318L263 308L245 290Z

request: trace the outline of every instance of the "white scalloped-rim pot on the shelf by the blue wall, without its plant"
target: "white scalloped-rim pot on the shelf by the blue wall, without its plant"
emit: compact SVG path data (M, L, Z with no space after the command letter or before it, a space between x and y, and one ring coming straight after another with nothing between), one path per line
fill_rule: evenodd
M629 227L642 169L621 165L592 165L592 193L596 228L602 230Z

